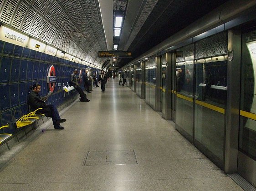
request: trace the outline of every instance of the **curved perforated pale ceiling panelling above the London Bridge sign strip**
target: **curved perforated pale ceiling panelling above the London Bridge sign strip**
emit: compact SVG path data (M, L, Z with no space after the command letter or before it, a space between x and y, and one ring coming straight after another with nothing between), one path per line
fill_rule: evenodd
M106 61L98 0L0 0L0 22L98 67Z

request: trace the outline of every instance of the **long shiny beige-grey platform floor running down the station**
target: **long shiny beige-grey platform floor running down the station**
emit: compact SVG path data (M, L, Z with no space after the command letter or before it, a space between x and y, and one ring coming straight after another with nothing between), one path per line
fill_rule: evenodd
M242 190L117 79L87 96L0 169L0 191Z

